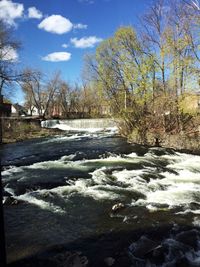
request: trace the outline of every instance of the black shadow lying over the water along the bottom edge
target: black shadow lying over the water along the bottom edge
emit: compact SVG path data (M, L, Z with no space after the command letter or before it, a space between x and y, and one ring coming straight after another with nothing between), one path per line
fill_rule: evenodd
M136 231L119 231L109 232L98 236L91 236L88 238L81 238L74 242L56 245L48 248L45 251L37 253L31 257L24 258L22 260L8 264L9 267L42 267L42 266L176 266L176 267L189 267L199 266L192 265L187 260L183 252L187 253L187 250L197 250L197 239L199 237L199 229L191 228L186 225L179 225L176 228L171 224L166 224L162 227L151 227L146 229L140 229ZM170 241L174 236L175 245L170 245ZM142 243L138 240L147 240L146 243ZM150 241L149 241L150 240ZM166 241L167 240L167 241ZM138 243L137 243L138 242ZM151 244L149 244L149 242ZM169 242L167 247L167 242ZM178 243L181 244L181 248L178 248ZM131 254L131 246L137 244L137 252L141 259ZM163 251L161 251L161 246ZM171 265L166 264L165 252L173 247L174 259L176 263ZM164 252L165 250L165 252ZM138 252L139 251L139 252ZM70 265L66 264L66 255L69 254L83 255L87 258L87 265ZM156 254L157 253L157 254ZM171 253L171 252L170 252ZM81 257L80 256L80 257ZM169 255L168 255L169 256ZM106 259L114 259L113 264L109 265ZM170 257L169 257L170 260ZM156 262L157 261L157 262ZM148 265L146 265L148 263ZM155 264L155 265L150 265ZM158 264L158 265L157 265Z

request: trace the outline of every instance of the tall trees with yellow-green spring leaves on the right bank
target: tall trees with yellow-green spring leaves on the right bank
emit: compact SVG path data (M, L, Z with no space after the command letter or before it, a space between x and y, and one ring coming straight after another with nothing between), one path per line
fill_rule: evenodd
M191 114L187 105L200 89L199 48L197 3L154 1L137 28L120 27L86 56L85 73L122 119L123 134L134 131L145 143L148 132L195 126L198 109Z

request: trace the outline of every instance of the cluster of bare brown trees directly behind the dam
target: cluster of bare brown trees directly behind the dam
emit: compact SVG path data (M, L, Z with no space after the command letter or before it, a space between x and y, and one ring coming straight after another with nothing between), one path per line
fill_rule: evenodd
M43 118L102 117L108 109L96 88L85 83L67 83L57 72L52 77L38 70L26 69L20 82L25 107L30 115Z

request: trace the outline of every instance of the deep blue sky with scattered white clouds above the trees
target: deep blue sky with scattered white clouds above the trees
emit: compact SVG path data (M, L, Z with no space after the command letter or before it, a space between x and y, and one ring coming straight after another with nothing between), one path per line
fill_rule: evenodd
M83 56L119 26L137 25L151 0L1 0L0 18L13 28L22 49L12 56L20 68L60 70L80 81ZM16 99L16 98L15 98ZM17 100L23 101L18 91Z

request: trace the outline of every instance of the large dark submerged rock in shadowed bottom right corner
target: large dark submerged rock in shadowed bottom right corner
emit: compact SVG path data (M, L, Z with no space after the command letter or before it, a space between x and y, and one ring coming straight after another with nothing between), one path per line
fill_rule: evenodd
M160 241L141 236L129 246L128 254L133 266L196 267L200 266L199 242L200 232L195 229L171 232Z

